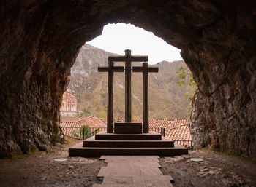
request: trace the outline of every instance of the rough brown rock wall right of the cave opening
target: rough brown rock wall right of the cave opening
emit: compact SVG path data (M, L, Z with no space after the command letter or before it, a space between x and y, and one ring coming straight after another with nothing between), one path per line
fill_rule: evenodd
M224 5L227 15L181 53L198 84L189 124L195 147L256 161L256 12L245 5Z

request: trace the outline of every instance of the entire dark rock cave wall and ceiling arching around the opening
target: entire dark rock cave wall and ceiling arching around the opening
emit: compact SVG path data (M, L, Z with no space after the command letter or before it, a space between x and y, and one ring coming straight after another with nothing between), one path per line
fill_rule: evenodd
M63 140L59 105L78 49L132 23L181 49L198 84L197 148L256 158L254 1L1 1L0 153Z

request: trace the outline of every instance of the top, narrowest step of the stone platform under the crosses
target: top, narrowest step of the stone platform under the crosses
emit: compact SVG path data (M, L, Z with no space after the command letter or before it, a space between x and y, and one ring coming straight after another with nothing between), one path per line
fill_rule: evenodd
M95 140L162 140L162 135L157 132L143 134L115 134L99 132L95 135Z

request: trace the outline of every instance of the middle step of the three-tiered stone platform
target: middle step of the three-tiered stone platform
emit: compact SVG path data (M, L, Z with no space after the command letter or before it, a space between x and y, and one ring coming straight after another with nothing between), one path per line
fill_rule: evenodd
M95 136L83 140L83 147L173 147L174 142L165 137L162 140L95 140Z

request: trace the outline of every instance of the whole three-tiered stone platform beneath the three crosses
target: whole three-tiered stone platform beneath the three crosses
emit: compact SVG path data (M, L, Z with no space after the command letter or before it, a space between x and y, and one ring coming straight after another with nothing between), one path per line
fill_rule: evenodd
M83 143L69 148L69 156L102 155L159 155L176 156L188 154L179 146L156 132L143 134L114 134L99 132Z

